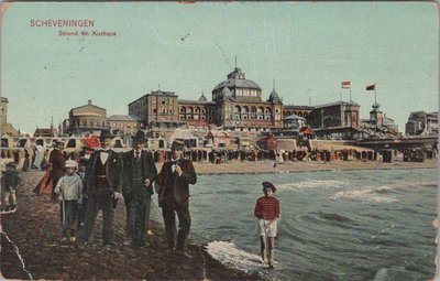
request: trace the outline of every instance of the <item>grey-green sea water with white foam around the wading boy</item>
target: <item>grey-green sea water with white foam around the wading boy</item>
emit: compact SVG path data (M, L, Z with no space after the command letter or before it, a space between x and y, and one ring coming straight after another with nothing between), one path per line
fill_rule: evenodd
M274 270L253 216L263 181L282 204ZM190 239L228 267L271 280L433 278L436 169L199 175L190 190Z

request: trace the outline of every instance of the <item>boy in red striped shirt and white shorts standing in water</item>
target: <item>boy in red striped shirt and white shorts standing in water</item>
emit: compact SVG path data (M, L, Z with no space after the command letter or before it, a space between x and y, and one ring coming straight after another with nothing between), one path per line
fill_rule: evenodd
M275 237L277 221L280 218L279 201L273 196L276 188L270 182L263 182L264 196L255 204L254 215L258 219L261 256L264 263L274 268Z

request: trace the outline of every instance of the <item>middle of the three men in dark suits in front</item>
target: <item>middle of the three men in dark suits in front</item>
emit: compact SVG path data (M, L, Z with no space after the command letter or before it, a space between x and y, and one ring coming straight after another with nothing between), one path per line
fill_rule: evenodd
M143 150L146 139L143 131L138 131L133 140L133 149L122 154L123 184L122 195L127 207L128 240L124 245L133 247L147 246L145 241L145 224L150 219L152 183L157 175L152 153Z

